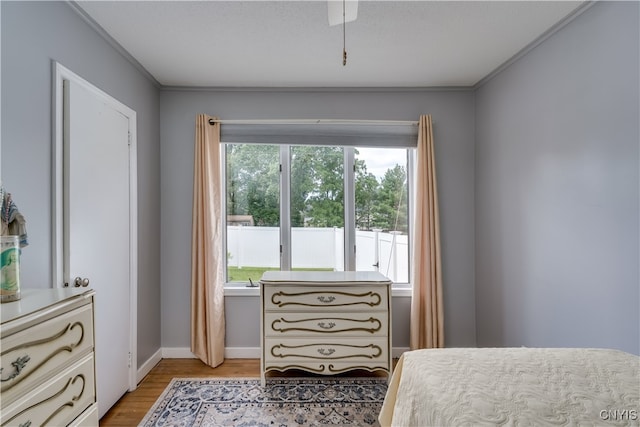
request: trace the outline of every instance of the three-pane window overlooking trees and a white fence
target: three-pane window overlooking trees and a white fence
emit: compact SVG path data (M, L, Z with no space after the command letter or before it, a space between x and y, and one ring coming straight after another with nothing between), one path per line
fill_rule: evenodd
M267 270L409 281L408 148L226 143L227 282Z

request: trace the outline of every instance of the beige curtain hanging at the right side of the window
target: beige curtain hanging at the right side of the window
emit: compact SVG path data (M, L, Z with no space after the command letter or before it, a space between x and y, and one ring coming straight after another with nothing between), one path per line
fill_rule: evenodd
M431 116L420 116L416 161L412 350L444 347L440 220Z

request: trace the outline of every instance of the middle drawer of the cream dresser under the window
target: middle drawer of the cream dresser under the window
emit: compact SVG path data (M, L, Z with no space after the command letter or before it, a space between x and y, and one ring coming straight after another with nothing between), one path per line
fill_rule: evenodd
M384 312L293 313L267 312L267 336L387 336L389 324Z

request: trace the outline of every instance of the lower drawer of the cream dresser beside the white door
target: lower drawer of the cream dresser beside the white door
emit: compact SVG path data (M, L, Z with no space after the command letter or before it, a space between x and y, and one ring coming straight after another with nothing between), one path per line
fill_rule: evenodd
M95 402L93 354L2 408L2 426L64 426Z

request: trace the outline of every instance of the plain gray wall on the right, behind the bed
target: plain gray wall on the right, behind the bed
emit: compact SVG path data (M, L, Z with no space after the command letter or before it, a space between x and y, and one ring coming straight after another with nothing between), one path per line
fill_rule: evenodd
M480 346L640 354L638 7L597 3L476 93Z

